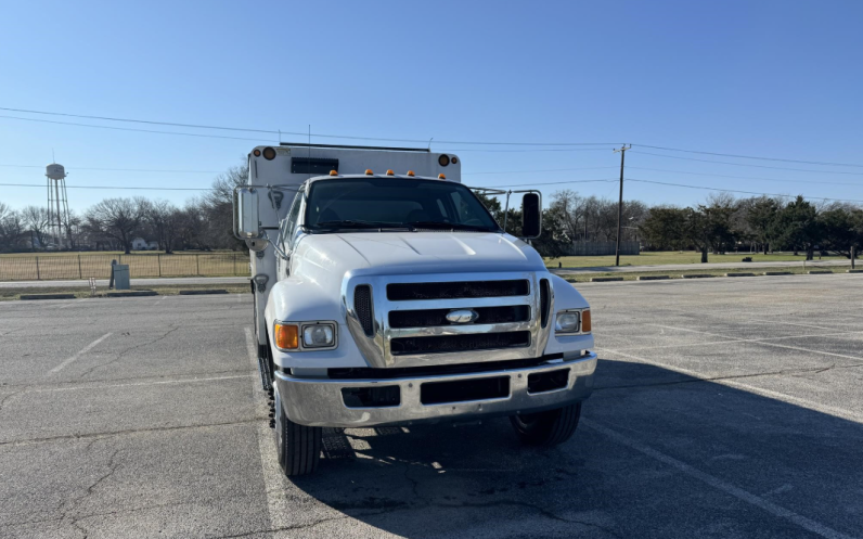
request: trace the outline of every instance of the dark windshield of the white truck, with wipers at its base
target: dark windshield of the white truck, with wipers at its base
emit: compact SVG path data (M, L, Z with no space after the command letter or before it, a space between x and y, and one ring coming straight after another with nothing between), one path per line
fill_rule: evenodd
M432 229L497 232L498 223L461 183L401 178L319 180L311 184L306 227L344 229Z

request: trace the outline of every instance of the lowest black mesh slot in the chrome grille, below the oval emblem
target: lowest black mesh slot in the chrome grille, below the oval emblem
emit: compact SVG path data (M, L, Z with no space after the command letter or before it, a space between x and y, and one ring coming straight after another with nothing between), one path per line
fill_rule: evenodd
M399 337L390 342L390 351L394 356L402 356L407 354L493 350L523 346L530 346L529 331Z

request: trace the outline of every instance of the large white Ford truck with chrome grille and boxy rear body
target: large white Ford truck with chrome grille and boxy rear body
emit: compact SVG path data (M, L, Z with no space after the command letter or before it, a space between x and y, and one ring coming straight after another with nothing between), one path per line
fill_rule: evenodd
M318 467L323 427L508 416L528 445L576 431L596 355L588 303L528 241L541 197L504 232L458 155L255 147L234 193L279 463ZM482 189L505 198L513 192ZM505 226L505 224L504 224Z

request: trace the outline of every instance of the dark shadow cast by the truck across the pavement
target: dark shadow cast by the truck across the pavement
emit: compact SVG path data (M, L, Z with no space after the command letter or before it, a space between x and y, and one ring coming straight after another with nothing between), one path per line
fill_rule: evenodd
M324 436L318 473L294 479L294 496L368 525L363 536L863 529L861 423L643 363L601 360L576 435L551 449L520 446L506 419Z

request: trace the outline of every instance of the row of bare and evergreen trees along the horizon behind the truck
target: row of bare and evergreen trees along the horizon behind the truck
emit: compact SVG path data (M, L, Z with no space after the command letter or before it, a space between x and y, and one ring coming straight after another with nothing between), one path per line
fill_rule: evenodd
M129 253L136 238L155 241L166 253L175 249L241 249L233 238L233 189L245 183L247 165L228 169L217 177L207 194L182 207L167 201L105 198L80 215L73 215L64 241L73 247L103 247ZM520 234L520 202L513 195L504 213L502 197L479 195L506 232ZM564 189L543 203L542 235L532 241L543 256L571 253L574 242L615 241L618 201L582 196ZM701 261L708 254L758 248L768 253L803 251L811 260L815 251L850 255L863 248L863 209L834 203L813 204L802 196L794 200L756 196L735 198L713 194L704 204L690 207L623 201L622 239L637 240L652 251L696 249ZM35 249L52 241L48 210L27 206L20 210L0 202L0 252Z

